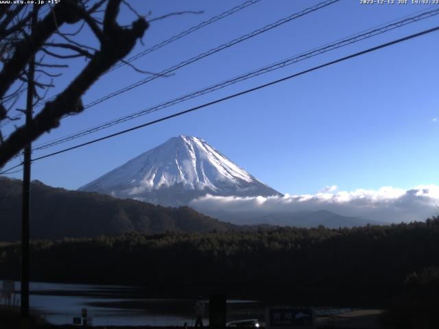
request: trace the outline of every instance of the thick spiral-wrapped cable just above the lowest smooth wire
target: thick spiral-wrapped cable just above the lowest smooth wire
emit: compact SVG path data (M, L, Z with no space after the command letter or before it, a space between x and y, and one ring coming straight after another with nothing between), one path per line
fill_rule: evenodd
M107 123L104 123L102 125L97 125L95 127L88 128L87 130L83 130L82 132L77 132L75 134L70 134L70 135L64 136L62 138L57 138L54 141L44 143L44 144L39 145L39 146L37 145L36 147L34 147L34 151L38 151L41 149L47 149L49 147L53 147L55 145L59 145L62 143L67 143L68 141L72 141L76 138L80 138L82 136L86 136L88 134L98 132L99 130L104 130L108 127L112 127L113 125L117 125L119 123L123 123L123 122L129 121L129 120L132 120L132 119L136 119L136 118L141 117L145 114L150 114L150 113L156 112L158 110L163 110L163 108L173 106L176 103L180 103L182 101L187 101L188 99L193 99L193 98L201 96L201 95L206 95L207 93L211 93L215 90L219 90L221 88L225 88L226 86L236 84L237 82L248 80L252 77L256 77L258 75L262 75L262 74L268 73L270 71L282 69L285 66L294 64L294 63L299 62L301 60L306 60L308 58L311 58L313 56L318 56L318 55L325 53L327 51L331 51L333 49L338 49L338 48L344 47L346 45L351 45L355 42L359 42L359 41L364 40L366 38L371 38L372 36L377 36L378 34L383 34L385 32L392 30L392 29L396 29L398 27L402 27L404 25L407 25L407 24L410 24L410 23L413 23L416 21L420 21L421 19L426 19L428 17L435 16L437 14L439 14L439 8L437 8L436 10L431 10L429 12L425 12L423 14L412 16L412 17L407 18L407 19L403 19L402 21L397 21L396 23L381 26L381 27L375 28L375 29L366 30L367 32L364 32L361 34L354 34L353 36L351 36L349 38L337 40L336 42L329 43L329 44L324 45L320 48L315 48L311 51L307 51L305 53L300 53L298 56L294 56L292 58L287 58L285 60L281 60L280 62L276 62L276 63L271 64L269 66L264 66L261 69L257 69L257 70L251 71L249 73L239 75L237 77L234 77L233 79L226 80L224 82L220 82L218 84L206 87L206 88L201 89L201 90L197 90L193 93L178 97L176 99L172 99L171 101L166 101L165 103L158 104L157 106L152 106L150 108L146 108L146 109L141 110L139 112L134 112L132 114L121 117L119 119L115 119L115 120L109 121Z

